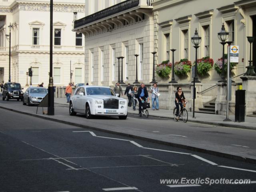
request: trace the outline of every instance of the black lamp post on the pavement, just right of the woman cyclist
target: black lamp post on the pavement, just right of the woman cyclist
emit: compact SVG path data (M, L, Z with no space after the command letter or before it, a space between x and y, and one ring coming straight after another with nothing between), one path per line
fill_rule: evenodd
M195 64L195 74L194 74L194 80L193 80L193 118L195 118L195 99L196 99L196 82L200 83L197 78L197 49L198 45L201 43L202 38L198 36L197 30L195 31L194 36L191 38L191 42L194 44L194 48L196 48L196 64Z

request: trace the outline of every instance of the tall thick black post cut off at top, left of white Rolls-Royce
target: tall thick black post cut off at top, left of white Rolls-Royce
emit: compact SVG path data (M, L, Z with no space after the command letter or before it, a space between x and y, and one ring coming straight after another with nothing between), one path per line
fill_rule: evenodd
M48 85L48 115L54 115L54 87L52 78L52 32L53 32L53 0L50 0L50 76Z

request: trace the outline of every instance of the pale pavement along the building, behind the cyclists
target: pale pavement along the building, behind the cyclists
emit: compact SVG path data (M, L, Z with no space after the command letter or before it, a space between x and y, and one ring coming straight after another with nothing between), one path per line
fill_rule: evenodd
M69 105L66 98L54 98L56 104ZM148 109L150 116L162 117L162 118L173 118L172 110L152 110ZM138 104L136 106L136 111L132 107L128 107L128 113L138 114ZM256 130L256 117L245 117L245 122L235 122L235 116L230 115L230 122L223 121L226 119L224 115L215 115L215 114L204 114L204 113L195 113L195 118L193 118L193 113L188 112L188 122L197 122L202 124L212 124L225 127L234 127L234 128L245 128L245 129L255 129Z

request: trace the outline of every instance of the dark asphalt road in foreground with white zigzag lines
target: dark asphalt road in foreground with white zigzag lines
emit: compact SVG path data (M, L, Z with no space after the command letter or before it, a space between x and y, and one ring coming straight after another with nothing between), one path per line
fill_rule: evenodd
M0 114L0 192L253 192L256 188L256 182L211 186L192 182L196 178L256 181L255 164L8 110L0 109ZM193 185L160 183L181 178L191 179Z

